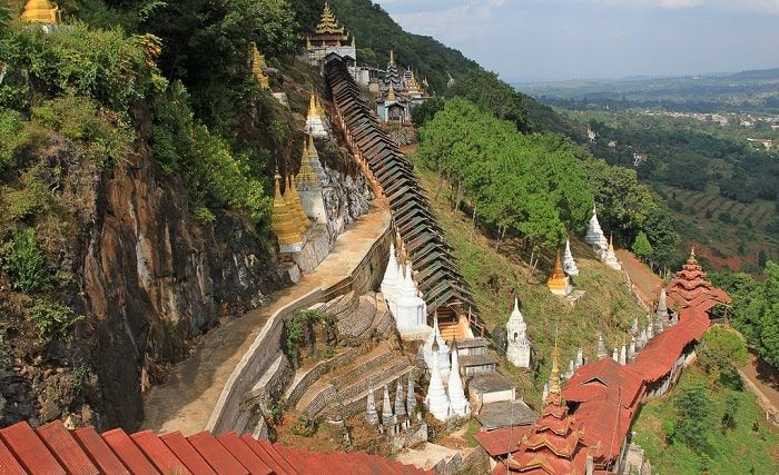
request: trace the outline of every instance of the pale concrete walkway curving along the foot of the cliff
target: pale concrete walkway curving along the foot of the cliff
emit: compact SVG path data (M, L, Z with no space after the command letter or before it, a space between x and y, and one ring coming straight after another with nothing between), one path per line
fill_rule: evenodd
M348 226L319 267L297 285L274 294L266 307L227 320L206 334L189 358L171 369L165 384L148 390L142 428L180 431L185 436L203 431L233 369L274 311L348 277L388 225L389 212L374 208Z

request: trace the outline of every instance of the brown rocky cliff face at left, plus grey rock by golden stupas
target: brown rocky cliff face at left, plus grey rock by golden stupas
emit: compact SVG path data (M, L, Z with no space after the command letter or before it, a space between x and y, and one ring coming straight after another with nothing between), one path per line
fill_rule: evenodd
M148 137L150 125L139 122L139 137ZM134 429L144 389L164 378L166 366L221 318L264 305L289 281L272 238L240 217L195 221L184 182L160 171L144 140L110 171L66 140L49 141L28 158L45 164L40 175L58 209L45 240L60 284L47 298L85 318L67 335L39 338L24 317L33 300L13 291L0 270L0 426L60 418ZM372 196L344 150L326 149L325 206L335 239L367 211Z

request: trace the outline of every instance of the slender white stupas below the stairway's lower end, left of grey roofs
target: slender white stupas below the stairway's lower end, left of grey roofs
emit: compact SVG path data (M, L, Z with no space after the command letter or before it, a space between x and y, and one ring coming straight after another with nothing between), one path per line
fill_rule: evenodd
M453 417L464 417L471 414L471 404L465 397L463 379L460 376L460 355L457 353L457 342L452 344L452 360L450 366L450 349L438 334L437 318L434 323L434 331L431 335L430 360L427 350L424 349L425 363L431 370L430 385L425 396L425 407L438 420L445 422ZM438 343L441 342L441 343ZM425 347L427 345L425 344ZM442 353L444 349L444 353ZM443 358L442 358L443 356ZM446 362L448 382L444 387L444 376L442 370L442 359Z

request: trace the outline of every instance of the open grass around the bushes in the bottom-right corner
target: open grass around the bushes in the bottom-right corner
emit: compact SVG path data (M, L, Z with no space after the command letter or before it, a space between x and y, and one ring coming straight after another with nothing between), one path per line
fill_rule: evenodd
M673 395L694 380L706 379L697 367L684 372L679 386L670 397L645 404L633 424L634 441L644 448L654 473L699 474L703 471L700 457L681 443L668 444L663 426L673 422ZM738 395L739 409L736 427L727 433L720 429L728 393ZM766 423L755 395L716 387L709 392L712 415L709 442L714 453L709 469L716 474L775 474L779 473L779 431Z

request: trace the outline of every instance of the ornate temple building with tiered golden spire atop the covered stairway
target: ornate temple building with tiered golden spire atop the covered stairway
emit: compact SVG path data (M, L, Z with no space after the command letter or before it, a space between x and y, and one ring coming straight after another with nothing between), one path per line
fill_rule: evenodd
M348 32L338 24L329 2L325 2L319 22L314 32L306 37L306 59L310 66L324 67L327 55L335 53L342 57L352 76L357 80L357 46L354 37L349 39Z

